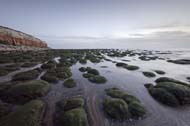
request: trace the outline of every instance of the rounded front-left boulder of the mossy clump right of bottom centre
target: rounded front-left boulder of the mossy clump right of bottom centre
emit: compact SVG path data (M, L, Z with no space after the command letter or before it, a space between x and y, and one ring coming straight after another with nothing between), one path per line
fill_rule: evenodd
M107 98L103 102L105 112L114 119L127 119L130 116L128 105L122 99Z

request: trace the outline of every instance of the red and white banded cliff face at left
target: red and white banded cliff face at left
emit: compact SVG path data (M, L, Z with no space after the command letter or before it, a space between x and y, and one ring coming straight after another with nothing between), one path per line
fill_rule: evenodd
M9 45L23 45L31 47L47 48L46 42L31 35L0 26L0 41Z

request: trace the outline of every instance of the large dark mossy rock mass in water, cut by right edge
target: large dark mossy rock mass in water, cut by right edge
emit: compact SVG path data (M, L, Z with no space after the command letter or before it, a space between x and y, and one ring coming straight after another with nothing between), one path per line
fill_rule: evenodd
M184 82L162 77L156 80L156 85L147 84L149 93L159 102L178 106L190 104L190 86Z

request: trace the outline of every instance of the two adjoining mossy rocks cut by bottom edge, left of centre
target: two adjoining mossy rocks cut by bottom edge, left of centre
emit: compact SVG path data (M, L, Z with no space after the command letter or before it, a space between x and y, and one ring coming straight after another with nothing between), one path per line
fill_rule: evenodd
M61 126L87 126L87 114L84 107L84 100L81 97L74 97L59 101L58 124Z

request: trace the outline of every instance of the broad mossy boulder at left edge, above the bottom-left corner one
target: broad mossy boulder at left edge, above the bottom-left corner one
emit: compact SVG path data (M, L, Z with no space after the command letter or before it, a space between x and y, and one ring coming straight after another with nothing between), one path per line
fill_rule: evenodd
M22 82L9 85L0 93L3 101L23 104L32 99L44 96L49 90L49 84L42 80Z

